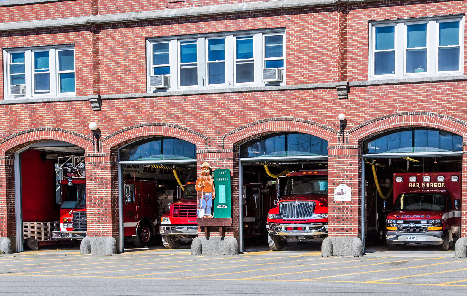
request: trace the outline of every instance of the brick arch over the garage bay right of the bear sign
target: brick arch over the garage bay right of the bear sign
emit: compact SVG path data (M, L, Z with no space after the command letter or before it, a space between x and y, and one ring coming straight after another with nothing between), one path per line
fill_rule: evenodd
M241 145L264 134L273 134L277 132L312 134L328 142L330 142L336 134L339 134L335 129L315 121L290 117L274 117L248 123L222 135L223 148L232 148L233 145Z

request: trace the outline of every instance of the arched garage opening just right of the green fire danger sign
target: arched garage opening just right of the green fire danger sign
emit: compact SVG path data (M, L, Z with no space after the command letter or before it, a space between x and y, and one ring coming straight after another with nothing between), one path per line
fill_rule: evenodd
M322 138L295 132L241 144L242 247L280 250L322 241L327 235L327 145ZM314 225L317 210L322 215ZM320 245L309 247L318 250Z

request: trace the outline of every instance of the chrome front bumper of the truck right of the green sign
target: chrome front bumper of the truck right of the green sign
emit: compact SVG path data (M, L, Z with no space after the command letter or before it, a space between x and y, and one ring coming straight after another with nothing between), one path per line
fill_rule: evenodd
M285 236L289 242L322 241L327 236L327 223L279 224L266 225L269 234Z

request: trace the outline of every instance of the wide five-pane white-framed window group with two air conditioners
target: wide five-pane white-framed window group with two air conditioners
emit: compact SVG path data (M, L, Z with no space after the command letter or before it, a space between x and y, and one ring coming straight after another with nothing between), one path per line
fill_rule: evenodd
M148 41L148 92L285 81L283 30Z

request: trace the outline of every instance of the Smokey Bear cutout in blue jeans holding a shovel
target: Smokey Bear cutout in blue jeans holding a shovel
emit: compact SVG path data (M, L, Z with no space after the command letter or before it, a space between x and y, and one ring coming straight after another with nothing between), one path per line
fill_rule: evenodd
M212 200L216 193L214 192L214 179L209 174L211 166L204 162L201 165L201 175L196 179L195 189L198 191L198 218L213 218Z

